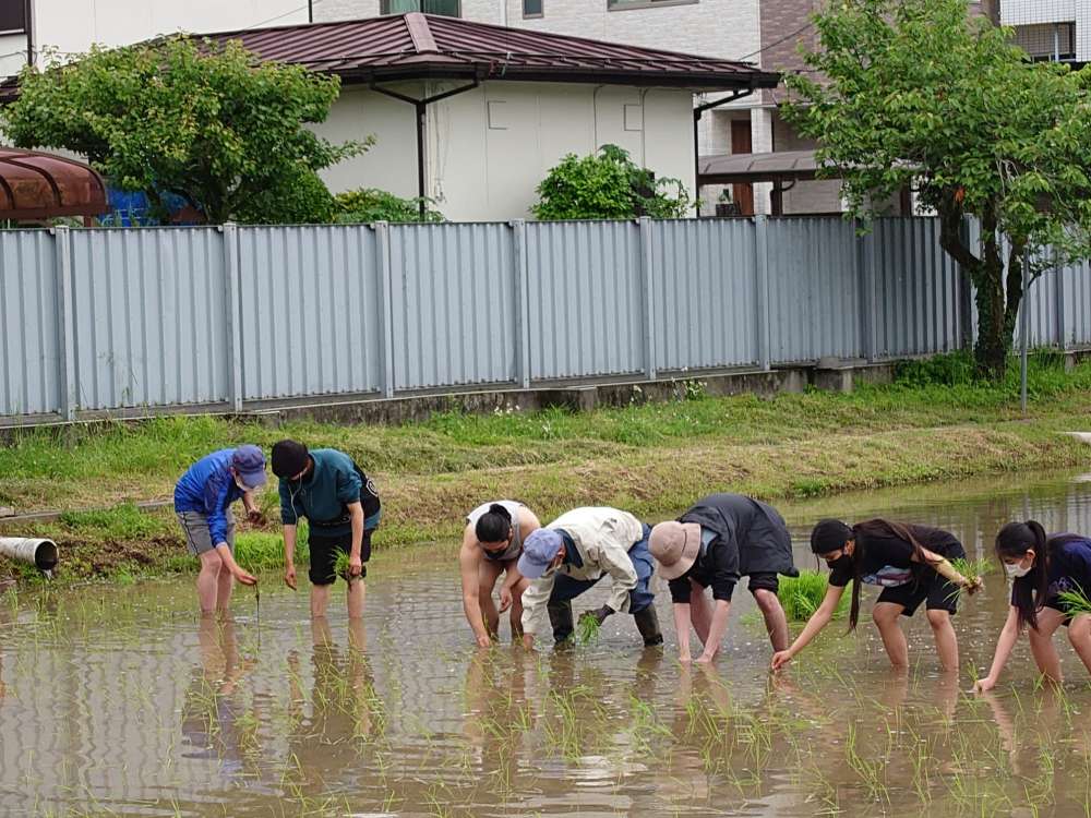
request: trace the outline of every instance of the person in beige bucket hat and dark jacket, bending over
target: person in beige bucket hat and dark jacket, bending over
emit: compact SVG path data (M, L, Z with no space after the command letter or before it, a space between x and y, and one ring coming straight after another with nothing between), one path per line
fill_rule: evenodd
M679 519L651 530L650 549L659 574L670 584L678 629L679 659L690 661L690 625L705 646L698 662L710 662L720 649L735 585L750 577L774 650L788 647L788 618L777 598L778 574L799 574L792 562L792 538L772 506L741 494L712 494ZM711 612L705 589L711 586Z

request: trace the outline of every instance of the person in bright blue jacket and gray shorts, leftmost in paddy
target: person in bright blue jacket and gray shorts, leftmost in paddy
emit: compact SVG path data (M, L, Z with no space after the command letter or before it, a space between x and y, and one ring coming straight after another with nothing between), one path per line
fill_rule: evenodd
M175 485L175 513L185 532L185 546L201 561L197 600L202 614L227 612L235 580L257 582L235 562L231 504L241 498L251 521L259 521L253 492L264 484L265 455L247 444L202 457Z

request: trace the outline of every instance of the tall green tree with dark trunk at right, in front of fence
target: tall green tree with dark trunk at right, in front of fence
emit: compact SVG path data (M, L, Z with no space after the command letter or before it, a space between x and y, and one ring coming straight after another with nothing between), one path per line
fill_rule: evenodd
M1091 72L1030 62L966 0L838 0L815 21L817 74L787 77L787 118L817 140L853 216L906 185L935 209L974 287L979 372L1002 376L1022 260L1033 280L1089 254Z

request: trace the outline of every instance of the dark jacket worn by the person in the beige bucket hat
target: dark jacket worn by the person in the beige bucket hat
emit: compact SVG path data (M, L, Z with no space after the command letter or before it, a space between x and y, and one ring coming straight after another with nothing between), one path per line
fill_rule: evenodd
M792 560L792 537L776 508L742 494L711 494L679 517L716 532L709 548L728 551L728 565L738 576L783 574L799 576ZM698 558L699 562L699 558Z

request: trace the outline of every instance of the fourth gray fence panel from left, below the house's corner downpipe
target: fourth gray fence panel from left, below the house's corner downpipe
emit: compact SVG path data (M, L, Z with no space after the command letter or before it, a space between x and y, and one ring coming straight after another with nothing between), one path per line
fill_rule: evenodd
M512 239L503 224L391 226L397 388L515 380Z

